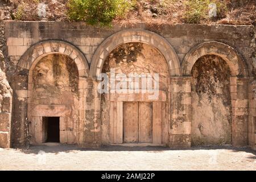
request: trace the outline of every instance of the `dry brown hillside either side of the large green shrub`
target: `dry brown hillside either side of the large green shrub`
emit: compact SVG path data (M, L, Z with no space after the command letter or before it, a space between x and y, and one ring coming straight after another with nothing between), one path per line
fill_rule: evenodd
M0 20L69 21L71 0L0 0ZM82 0L81 0L82 1ZM253 24L256 19L255 0L124 0L132 3L121 23L220 23ZM208 4L216 3L217 17L208 17ZM40 3L46 5L46 16L38 16Z

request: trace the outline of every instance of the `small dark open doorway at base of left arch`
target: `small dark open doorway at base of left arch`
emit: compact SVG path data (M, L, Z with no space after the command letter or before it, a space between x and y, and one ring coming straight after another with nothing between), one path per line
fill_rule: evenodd
M43 117L45 142L60 142L60 117Z

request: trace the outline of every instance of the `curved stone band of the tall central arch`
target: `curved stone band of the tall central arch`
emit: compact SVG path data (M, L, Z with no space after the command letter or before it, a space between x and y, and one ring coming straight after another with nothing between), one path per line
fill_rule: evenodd
M180 61L170 43L154 32L142 29L129 29L119 31L106 39L97 48L90 65L90 76L100 75L106 57L118 46L125 43L144 43L160 51L167 61L170 76L180 76Z

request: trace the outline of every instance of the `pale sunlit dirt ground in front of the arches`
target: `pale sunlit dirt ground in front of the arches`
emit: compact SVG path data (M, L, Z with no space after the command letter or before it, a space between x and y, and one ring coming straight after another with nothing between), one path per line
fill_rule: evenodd
M192 148L68 145L0 148L1 170L256 170L256 151L231 146Z

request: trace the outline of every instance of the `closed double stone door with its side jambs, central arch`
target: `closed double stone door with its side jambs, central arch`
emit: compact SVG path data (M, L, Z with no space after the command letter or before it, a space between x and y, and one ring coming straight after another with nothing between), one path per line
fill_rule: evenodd
M164 144L166 123L161 101L111 102L110 138L113 144Z

